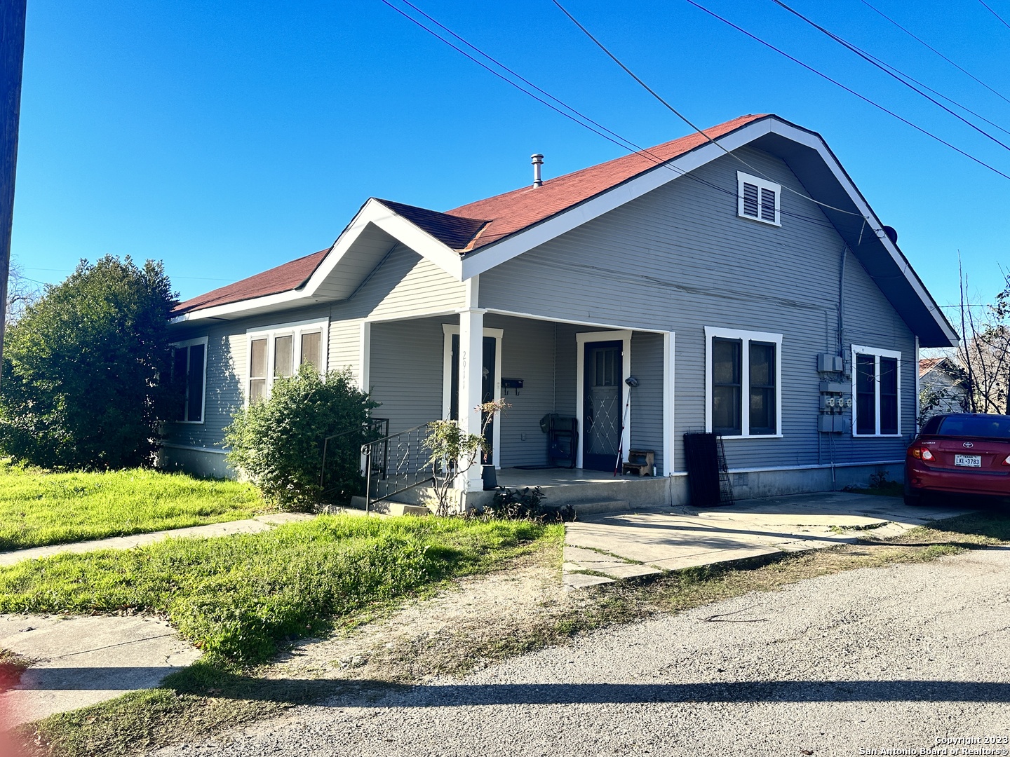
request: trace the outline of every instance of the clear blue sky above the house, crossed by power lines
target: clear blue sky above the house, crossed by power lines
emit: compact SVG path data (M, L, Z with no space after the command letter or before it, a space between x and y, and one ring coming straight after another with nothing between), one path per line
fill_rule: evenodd
M1010 174L1010 151L771 0L702 1ZM871 1L1010 98L1010 28L977 0ZM638 144L690 131L549 0L414 2ZM1001 289L1007 179L683 0L566 5L699 125L774 112L819 131L940 304L958 250L977 299ZM861 0L794 7L1010 130L1010 103ZM80 258L162 259L186 299L328 246L370 196L445 210L525 185L532 152L546 178L624 153L381 0L29 0L12 255L49 283Z

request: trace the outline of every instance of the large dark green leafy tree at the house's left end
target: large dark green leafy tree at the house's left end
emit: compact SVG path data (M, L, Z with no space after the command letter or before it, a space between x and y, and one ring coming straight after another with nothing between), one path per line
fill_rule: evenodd
M7 331L0 449L58 468L149 464L174 394L161 262L82 260Z

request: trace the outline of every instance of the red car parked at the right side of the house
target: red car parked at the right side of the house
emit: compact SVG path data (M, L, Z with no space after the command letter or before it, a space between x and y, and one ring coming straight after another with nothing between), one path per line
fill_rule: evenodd
M1010 415L926 421L905 455L905 504L921 505L934 493L1010 496Z

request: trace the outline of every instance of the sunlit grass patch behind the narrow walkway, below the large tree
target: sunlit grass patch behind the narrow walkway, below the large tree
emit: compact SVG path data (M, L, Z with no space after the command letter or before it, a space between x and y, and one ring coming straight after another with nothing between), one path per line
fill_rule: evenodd
M248 518L258 491L155 470L54 473L0 461L0 552Z

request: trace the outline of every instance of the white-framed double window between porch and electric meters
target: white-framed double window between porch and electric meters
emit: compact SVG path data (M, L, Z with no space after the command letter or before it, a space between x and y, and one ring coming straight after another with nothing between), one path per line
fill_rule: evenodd
M782 334L705 328L705 427L720 436L782 436Z

